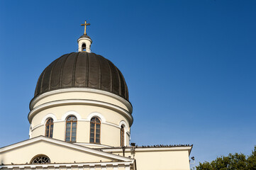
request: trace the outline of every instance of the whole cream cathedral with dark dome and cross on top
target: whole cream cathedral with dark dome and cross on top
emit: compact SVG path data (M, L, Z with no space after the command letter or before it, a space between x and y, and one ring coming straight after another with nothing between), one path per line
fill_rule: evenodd
M29 139L0 148L0 169L189 170L192 145L130 143L126 80L111 61L91 52L89 23L82 26L78 52L62 55L40 74Z

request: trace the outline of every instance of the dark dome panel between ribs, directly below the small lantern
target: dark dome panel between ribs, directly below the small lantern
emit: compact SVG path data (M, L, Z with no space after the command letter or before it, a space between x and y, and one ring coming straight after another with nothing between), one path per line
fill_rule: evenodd
M74 86L86 86L85 80L87 74L87 67L84 67L87 65L87 56L84 52L79 52L77 56L77 62L76 67L74 71Z

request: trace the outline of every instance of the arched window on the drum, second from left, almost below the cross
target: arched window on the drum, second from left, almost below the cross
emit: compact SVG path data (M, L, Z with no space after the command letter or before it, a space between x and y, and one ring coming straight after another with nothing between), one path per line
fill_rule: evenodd
M76 142L77 140L77 118L74 115L66 120L66 142Z

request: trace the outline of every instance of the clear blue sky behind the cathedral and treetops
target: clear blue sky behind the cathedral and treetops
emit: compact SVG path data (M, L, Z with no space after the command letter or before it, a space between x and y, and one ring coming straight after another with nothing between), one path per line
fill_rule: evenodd
M28 139L37 79L77 50L121 69L131 142L193 144L197 162L256 145L256 1L0 1L0 147Z

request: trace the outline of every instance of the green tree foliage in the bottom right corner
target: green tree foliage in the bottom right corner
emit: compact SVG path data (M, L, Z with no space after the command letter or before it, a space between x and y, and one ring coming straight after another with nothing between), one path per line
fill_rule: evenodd
M212 162L199 162L196 170L256 170L256 146L252 154L228 154L228 157L217 157Z

